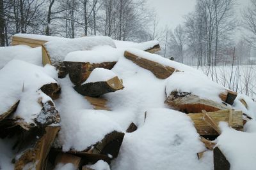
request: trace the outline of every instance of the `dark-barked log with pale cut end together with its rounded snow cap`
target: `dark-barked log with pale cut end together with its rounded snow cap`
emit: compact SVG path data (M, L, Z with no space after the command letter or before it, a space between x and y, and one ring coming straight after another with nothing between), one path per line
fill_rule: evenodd
M83 96L99 97L102 94L124 89L124 86L113 71L96 68L82 85L77 85L74 89Z

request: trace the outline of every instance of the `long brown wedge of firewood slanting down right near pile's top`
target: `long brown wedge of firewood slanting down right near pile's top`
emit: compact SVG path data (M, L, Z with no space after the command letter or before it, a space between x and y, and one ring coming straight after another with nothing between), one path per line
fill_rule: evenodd
M152 54L151 54L152 55ZM124 56L132 60L135 64L138 66L141 66L145 69L148 69L151 71L157 78L165 79L168 78L170 75L172 75L175 71L179 71L173 67L170 66L164 66L163 64L159 64L157 62L154 62L152 60L148 60L143 58L143 56L135 55L131 52L125 51Z

